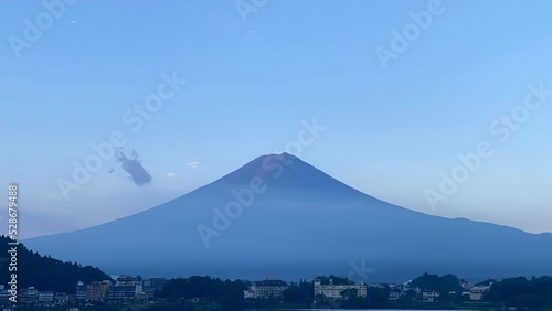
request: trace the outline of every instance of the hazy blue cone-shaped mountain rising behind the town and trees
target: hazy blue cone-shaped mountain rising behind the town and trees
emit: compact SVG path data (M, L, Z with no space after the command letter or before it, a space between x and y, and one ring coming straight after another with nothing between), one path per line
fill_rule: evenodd
M552 269L551 234L413 212L288 153L259 157L136 215L25 244L142 276L402 281L425 271L498 278Z

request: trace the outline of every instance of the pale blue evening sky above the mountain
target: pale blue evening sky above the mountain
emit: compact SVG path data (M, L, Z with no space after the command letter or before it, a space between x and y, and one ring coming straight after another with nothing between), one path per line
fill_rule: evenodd
M297 156L355 189L428 214L552 232L552 99L503 142L489 130L524 104L528 85L552 89L548 1L244 0L246 20L235 1L60 1L0 3L0 179L20 185L22 237L182 195L285 150L314 118L326 130ZM25 20L53 14L44 3L64 9L29 40ZM421 11L431 23L393 52L393 31L404 35ZM395 53L386 68L378 47ZM162 75L187 83L132 131L125 112L157 94ZM136 185L113 158L65 200L59 180L114 131L151 182ZM440 172L484 141L492 156L432 207Z

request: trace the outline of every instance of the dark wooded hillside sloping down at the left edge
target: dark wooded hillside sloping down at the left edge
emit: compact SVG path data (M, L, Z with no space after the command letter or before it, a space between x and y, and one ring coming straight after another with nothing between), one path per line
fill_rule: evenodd
M33 286L39 290L75 293L77 281L88 283L112 279L99 268L41 256L21 243L17 246L17 271L10 271L10 238L0 236L0 283L7 285L11 280L11 274L17 274L18 289Z

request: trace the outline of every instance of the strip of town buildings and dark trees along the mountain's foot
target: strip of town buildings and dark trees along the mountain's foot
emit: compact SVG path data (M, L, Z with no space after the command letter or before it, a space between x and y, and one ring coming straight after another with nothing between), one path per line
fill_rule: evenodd
M529 285L535 292L527 297ZM519 298L512 292L516 286ZM211 277L141 278L140 276L115 276L112 279L78 281L74 292L55 292L47 288L29 286L18 291L17 302L4 285L0 285L0 304L4 311L20 308L79 309L219 309L232 308L452 308L455 309L526 309L531 303L537 308L552 307L549 291L552 277L528 280L526 278L502 281L487 280L480 283L464 281L456 276L425 274L404 283L354 283L336 276L319 277L299 282L286 282L274 277L264 280L222 281ZM507 294L505 296L505 291ZM505 299L505 300L502 300ZM510 300L509 300L510 299ZM516 299L516 300L511 300ZM529 304L528 304L529 303ZM139 307L139 308L138 308ZM180 308L179 308L180 307Z

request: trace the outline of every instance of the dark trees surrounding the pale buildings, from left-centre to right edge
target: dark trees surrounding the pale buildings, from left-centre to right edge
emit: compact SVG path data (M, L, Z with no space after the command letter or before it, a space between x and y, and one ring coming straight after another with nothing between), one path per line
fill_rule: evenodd
M336 276L318 277L322 283L332 279L335 285L353 283L347 278ZM390 292L399 291L396 287L388 285L368 287L367 297L358 297L350 292L347 299L331 300L323 296L314 296L312 281L300 280L291 282L284 290L283 298L277 300L245 300L243 290L252 282L247 280L221 280L211 277L178 278L167 282L162 290L156 291L156 298L167 301L166 309L195 309L195 308L330 308L330 309L420 309L444 308L459 309L470 303L469 290L463 288L463 280L455 275L424 274L400 289L399 299L390 300ZM478 286L491 285L484 294L480 305L503 309L517 307L521 309L552 308L552 277L540 277L528 280L512 278L501 281L487 280ZM436 291L439 297L434 302L423 302L423 292ZM193 301L195 299L195 301ZM432 307L433 305L433 307ZM151 305L150 309L162 309L163 304Z

